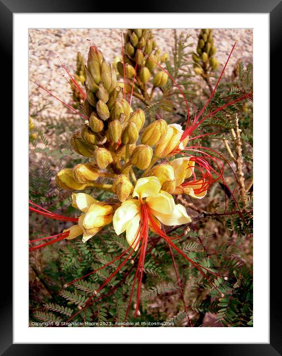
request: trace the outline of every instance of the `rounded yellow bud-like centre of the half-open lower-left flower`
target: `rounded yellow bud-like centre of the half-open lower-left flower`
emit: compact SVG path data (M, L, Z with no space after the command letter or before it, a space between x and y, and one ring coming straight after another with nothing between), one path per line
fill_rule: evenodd
M93 235L97 233L97 229L110 224L112 220L113 207L105 202L96 201L86 210L82 227L87 235Z

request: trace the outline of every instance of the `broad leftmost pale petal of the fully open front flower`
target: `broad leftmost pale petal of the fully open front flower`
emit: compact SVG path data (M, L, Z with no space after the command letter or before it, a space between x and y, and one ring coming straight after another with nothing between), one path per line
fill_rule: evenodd
M113 226L117 235L126 231L130 221L140 215L140 202L137 199L129 199L122 203L113 217Z

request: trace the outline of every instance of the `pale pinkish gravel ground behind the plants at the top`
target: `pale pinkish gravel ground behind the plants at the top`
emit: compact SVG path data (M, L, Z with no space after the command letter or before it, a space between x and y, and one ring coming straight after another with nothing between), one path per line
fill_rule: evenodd
M76 67L76 53L80 51L85 58L88 53L87 39L102 50L107 61L112 62L121 53L121 31L125 29L30 29L29 30L29 97L33 107L49 103L42 115L59 118L67 115L69 110L59 101L52 98L33 82L36 80L46 89L63 101L69 101L70 88L62 77L64 74L58 56L71 73ZM190 34L192 49L196 49L198 29L177 29L177 32ZM161 51L171 52L174 44L173 29L153 29L153 35ZM253 61L253 30L252 29L214 29L214 43L217 47L216 58L220 68L224 65L228 54L237 42L226 75L230 75L238 59L245 62Z

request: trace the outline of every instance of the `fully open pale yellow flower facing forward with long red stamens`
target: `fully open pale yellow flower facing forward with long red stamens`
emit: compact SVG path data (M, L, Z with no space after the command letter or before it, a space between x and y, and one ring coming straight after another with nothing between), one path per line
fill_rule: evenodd
M149 217L155 218L164 225L173 226L191 222L186 209L175 204L173 197L160 190L161 183L156 177L138 179L133 196L122 203L113 217L113 225L117 235L126 231L126 238L133 249L140 244L143 229L148 230Z

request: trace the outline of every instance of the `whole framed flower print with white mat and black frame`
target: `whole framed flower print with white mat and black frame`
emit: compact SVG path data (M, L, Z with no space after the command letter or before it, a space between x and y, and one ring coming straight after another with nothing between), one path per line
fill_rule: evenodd
M280 355L279 249L270 260L258 177L281 3L0 6L15 178L1 352L163 343Z

